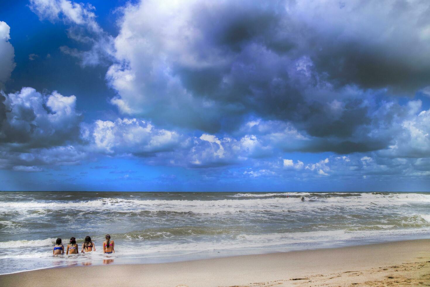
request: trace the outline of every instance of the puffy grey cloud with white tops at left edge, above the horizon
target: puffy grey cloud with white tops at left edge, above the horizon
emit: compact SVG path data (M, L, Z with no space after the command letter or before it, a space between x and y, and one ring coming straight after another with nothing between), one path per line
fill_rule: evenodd
M0 96L0 168L40 171L43 166L79 164L86 158L75 147L83 143L83 117L76 111L75 96L56 91L46 95L30 87Z

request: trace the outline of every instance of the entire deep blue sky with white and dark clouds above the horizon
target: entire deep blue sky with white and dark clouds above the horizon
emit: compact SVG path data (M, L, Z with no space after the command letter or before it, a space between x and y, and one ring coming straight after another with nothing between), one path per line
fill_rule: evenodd
M430 191L429 1L0 6L0 190Z

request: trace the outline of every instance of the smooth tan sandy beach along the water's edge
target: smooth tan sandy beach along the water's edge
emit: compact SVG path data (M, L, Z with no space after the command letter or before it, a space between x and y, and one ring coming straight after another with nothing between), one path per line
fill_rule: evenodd
M0 285L430 286L430 239L174 263L49 268L2 275Z

